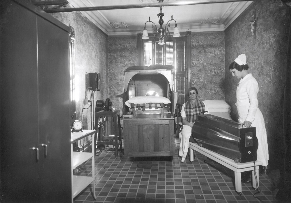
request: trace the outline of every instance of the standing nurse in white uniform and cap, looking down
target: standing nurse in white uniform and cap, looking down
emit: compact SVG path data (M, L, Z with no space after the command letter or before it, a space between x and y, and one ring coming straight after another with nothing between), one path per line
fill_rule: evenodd
M239 55L229 66L229 71L234 77L240 79L236 91L236 106L238 112L238 122L244 127L255 127L258 138L257 160L262 161L267 168L269 160L269 150L267 143L267 133L262 112L258 108L258 82L248 71L246 55ZM244 179L245 183L251 182L249 176Z

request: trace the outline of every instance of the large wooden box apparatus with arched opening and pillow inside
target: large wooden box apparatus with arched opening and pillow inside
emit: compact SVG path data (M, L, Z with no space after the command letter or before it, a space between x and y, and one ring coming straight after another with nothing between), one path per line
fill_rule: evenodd
M129 157L172 158L175 154L172 67L154 68L131 67L124 72L123 141ZM159 96L145 96L149 91Z

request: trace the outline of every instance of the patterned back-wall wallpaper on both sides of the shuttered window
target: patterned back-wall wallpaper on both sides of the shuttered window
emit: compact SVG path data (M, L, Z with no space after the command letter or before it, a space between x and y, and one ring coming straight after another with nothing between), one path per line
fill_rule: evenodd
M108 92L122 109L123 71L138 64L137 36L108 37ZM224 33L192 34L191 84L202 99L224 100Z

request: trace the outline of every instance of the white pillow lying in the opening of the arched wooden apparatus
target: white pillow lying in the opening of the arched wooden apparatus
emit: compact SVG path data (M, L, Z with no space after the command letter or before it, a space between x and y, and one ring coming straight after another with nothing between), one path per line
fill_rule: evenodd
M125 105L130 107L130 104L149 104L149 103L164 103L168 104L171 103L171 101L166 97L161 96L137 96L132 97L129 100L125 102Z

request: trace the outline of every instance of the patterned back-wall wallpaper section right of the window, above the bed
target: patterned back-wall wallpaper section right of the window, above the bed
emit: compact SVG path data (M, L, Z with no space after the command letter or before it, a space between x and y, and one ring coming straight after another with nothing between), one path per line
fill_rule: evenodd
M224 33L192 33L191 86L202 100L224 100Z

